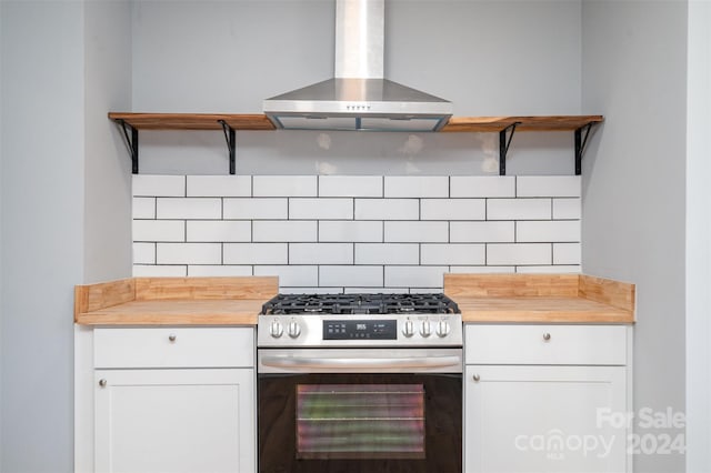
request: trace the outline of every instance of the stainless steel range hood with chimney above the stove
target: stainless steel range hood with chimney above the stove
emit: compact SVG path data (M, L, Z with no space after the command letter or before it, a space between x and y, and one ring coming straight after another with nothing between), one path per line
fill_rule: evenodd
M336 0L334 78L264 100L277 128L437 131L452 103L384 79L384 0Z

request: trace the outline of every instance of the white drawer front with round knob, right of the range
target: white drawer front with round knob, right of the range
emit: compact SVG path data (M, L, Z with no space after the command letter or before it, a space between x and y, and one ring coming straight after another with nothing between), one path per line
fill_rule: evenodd
M624 325L464 328L467 364L627 364Z

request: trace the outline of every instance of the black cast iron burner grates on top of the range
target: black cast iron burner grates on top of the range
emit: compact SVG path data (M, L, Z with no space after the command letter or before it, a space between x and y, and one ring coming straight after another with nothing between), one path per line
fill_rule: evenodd
M279 294L262 314L447 314L460 313L442 293L423 294Z

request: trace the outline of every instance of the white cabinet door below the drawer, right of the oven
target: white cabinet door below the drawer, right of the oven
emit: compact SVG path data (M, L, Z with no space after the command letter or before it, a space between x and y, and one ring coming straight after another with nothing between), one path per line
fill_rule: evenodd
M615 420L625 375L624 366L467 365L465 471L624 472L627 430Z

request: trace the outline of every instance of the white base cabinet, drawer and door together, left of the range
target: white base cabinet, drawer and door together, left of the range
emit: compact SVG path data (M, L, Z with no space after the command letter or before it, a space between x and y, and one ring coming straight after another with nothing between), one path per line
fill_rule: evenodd
M256 471L252 328L93 330L93 471Z

